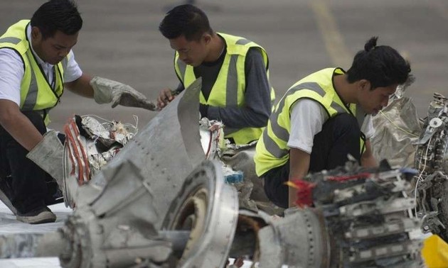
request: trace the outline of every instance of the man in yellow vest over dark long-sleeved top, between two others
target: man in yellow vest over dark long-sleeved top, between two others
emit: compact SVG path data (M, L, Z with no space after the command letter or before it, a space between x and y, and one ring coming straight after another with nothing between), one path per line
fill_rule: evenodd
M246 38L215 33L206 14L189 4L169 11L159 30L176 50L178 89L163 89L159 108L202 77L202 117L222 121L225 138L237 144L258 140L274 101L265 50Z

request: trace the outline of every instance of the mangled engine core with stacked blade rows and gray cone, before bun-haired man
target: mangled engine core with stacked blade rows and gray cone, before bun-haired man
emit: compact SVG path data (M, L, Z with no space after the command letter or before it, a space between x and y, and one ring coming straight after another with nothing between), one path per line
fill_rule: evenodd
M260 267L420 267L413 174L348 162L309 175L314 208L289 208L260 230Z

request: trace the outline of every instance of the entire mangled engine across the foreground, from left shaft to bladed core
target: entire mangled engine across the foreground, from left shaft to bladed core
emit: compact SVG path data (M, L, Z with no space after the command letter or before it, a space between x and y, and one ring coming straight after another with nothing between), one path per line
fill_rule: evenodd
M312 208L287 210L283 218L238 211L238 193L224 183L220 164L203 161L204 151L215 149L201 145L200 83L88 182L80 183L82 164L73 174L68 167L73 215L53 233L0 236L1 256L58 256L70 268L220 268L242 255L268 268L420 265L407 170L348 162L306 178L314 185Z

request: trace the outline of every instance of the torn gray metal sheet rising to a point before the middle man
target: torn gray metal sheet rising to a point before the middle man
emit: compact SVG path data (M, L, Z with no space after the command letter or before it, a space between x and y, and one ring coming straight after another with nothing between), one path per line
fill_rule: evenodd
M163 193L153 203L160 217L155 225L156 228L160 227L169 203L181 188L183 179L205 159L199 129L191 127L198 125L200 89L201 79L198 79L176 96L174 101L139 130L139 133L92 177L89 184L82 186L82 191L78 189L80 186L74 183L76 179L68 174L65 183L70 189L68 196L76 201L73 203L76 203L76 206L92 203L110 181L110 175L107 174L117 172L123 162L132 162L139 169L139 174L145 178L145 183L150 186L151 191ZM96 194L92 194L93 192Z

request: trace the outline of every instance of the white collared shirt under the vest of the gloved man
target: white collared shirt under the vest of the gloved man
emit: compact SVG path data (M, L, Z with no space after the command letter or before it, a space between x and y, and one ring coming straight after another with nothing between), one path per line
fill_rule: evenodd
M48 82L52 84L54 79L53 65L41 60L33 50L33 46L31 45L31 25L29 24L26 28L26 35L30 41L33 55L36 57L38 64L41 65L43 72L48 78ZM75 55L73 55L72 50L70 50L70 55L71 57L68 60L67 68L64 70L65 83L73 82L82 75L82 70L75 61ZM17 52L9 48L0 49L0 99L14 101L20 106L20 89L24 72L22 59Z

